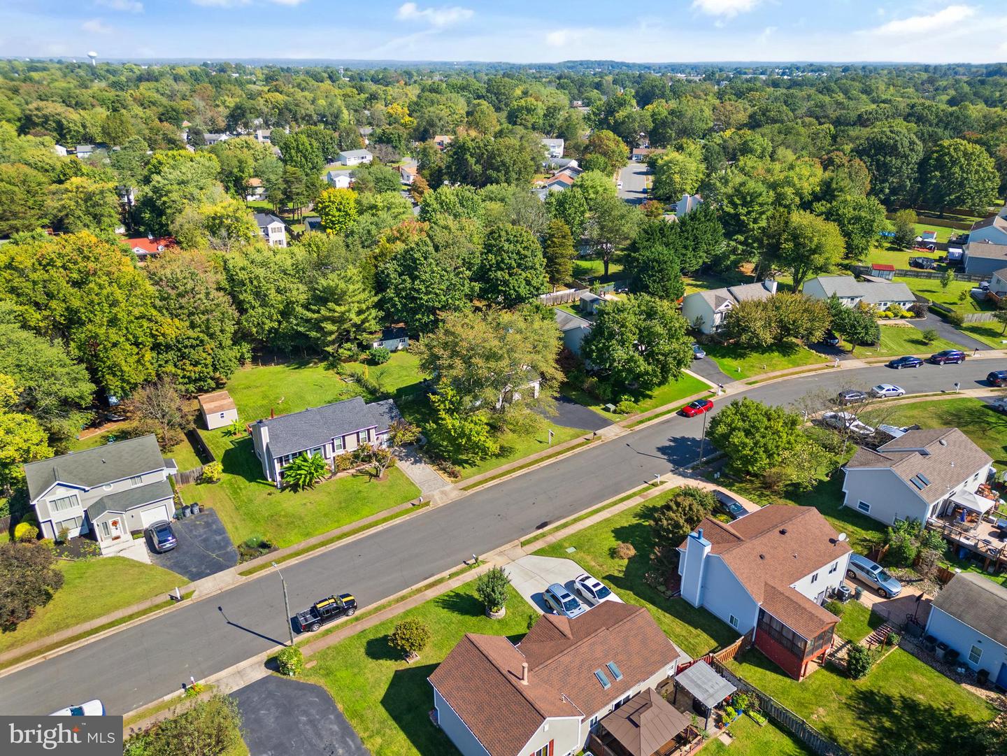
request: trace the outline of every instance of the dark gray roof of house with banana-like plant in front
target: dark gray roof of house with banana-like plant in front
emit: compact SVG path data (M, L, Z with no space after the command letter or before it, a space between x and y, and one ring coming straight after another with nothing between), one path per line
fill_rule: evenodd
M392 416L392 410L395 410L395 417ZM269 451L276 458L313 449L336 436L367 428L376 428L378 433L387 431L392 420L398 417L398 412L392 400L369 405L359 397L353 397L278 418L260 420L259 424L269 430Z

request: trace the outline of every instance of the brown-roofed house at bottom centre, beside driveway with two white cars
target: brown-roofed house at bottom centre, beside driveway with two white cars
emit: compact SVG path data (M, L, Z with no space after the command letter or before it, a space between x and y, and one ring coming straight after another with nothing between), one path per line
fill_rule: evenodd
M546 614L519 643L466 633L428 678L433 716L463 756L571 756L682 656L643 607Z

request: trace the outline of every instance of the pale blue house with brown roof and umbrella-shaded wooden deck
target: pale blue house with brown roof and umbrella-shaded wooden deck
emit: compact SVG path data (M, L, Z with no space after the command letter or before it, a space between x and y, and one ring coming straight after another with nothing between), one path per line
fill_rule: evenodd
M843 504L885 524L925 522L956 507L989 509L976 489L992 463L958 428L909 431L877 451L857 449L843 468Z

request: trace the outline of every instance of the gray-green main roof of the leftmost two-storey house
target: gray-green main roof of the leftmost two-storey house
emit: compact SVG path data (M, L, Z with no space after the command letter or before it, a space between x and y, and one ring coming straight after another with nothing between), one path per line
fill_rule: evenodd
M24 466L24 476L28 495L34 501L56 482L94 488L163 469L164 457L157 447L157 439L149 435L30 462Z

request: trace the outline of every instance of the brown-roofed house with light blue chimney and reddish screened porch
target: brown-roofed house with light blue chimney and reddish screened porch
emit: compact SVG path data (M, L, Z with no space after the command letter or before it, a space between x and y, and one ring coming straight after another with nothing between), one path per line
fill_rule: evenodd
M812 506L769 504L733 522L705 517L679 547L682 597L729 624L796 679L824 663L850 545Z

